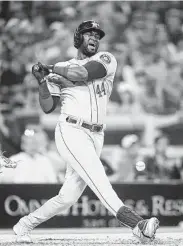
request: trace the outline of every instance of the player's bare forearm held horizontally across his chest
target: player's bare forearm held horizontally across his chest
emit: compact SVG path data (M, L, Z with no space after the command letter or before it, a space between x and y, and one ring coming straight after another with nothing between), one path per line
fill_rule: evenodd
M53 72L64 76L73 82L84 82L88 80L88 71L83 66L63 66L59 63L54 65Z

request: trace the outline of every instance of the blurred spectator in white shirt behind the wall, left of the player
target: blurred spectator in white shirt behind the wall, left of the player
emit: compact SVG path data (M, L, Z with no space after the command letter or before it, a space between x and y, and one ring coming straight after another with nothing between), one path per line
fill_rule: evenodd
M10 157L18 162L13 170L5 170L0 183L57 183L57 174L47 156L48 137L37 126L27 126L21 137L22 151Z

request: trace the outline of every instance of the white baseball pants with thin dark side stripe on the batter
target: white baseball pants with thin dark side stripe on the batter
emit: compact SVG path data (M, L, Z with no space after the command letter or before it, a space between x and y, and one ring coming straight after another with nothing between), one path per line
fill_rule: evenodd
M57 124L56 146L67 163L65 182L57 196L28 215L33 227L69 209L77 202L86 185L116 216L124 204L113 190L99 158L103 138L103 133L90 132L72 123L63 121Z

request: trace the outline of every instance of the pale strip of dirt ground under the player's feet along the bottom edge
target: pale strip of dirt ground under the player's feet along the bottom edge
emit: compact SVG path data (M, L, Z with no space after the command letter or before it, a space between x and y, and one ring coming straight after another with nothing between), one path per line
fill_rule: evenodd
M37 229L32 233L31 246L183 246L183 230L176 228L159 229L156 239L151 243L142 244L132 236L128 229ZM17 243L12 231L0 231L0 246L23 246Z

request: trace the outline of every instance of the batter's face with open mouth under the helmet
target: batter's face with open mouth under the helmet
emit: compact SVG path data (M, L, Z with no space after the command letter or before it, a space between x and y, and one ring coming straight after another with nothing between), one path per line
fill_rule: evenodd
M81 51L87 56L95 55L99 47L99 33L96 31L85 32L83 39L83 43L80 47Z

